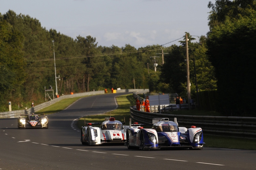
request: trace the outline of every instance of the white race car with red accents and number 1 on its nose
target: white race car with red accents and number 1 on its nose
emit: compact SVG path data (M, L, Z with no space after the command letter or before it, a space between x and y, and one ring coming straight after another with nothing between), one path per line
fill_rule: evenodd
M100 127L92 126L100 124ZM126 142L123 123L109 118L102 123L85 123L81 128L81 142L83 145L101 145L106 142ZM129 126L128 126L129 127Z

